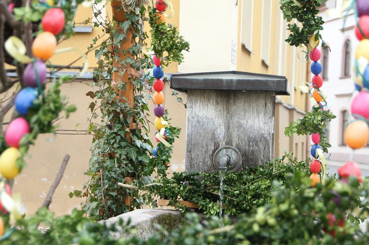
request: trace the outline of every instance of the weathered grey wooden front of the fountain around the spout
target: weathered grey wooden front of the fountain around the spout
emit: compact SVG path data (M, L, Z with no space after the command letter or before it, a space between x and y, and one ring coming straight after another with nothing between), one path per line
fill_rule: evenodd
M215 173L213 155L226 145L242 155L242 169L273 156L275 92L187 91L186 171Z

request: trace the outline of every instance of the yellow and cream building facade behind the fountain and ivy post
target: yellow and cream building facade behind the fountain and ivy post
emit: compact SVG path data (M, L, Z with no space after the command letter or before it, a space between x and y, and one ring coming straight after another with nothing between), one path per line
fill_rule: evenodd
M185 63L172 64L166 73L239 70L255 73L285 75L290 85L290 96L277 96L275 118L275 155L283 150L295 152L298 159L306 159L308 137L294 136L286 138L284 127L296 121L308 111L306 94L296 87L307 81L308 64L299 61L300 48L289 46L286 39L286 23L275 0L172 0L175 15L167 21L179 26L181 35L190 42L190 52L185 53ZM76 35L63 41L58 48L77 47L87 51L87 47L96 35L103 35L100 27L83 21L92 18L93 12L100 10L98 18L111 18L111 7L104 3L93 9L79 7L76 15ZM199 11L200 10L200 11ZM95 17L92 18L95 20ZM98 19L97 19L98 20ZM148 27L146 27L148 30ZM98 44L98 42L97 42ZM68 65L79 57L78 53L56 54L52 57L54 65ZM70 118L58 121L63 130L85 130L88 127L91 111L88 106L91 99L86 93L91 91L92 69L96 59L94 52L88 54L90 71L81 77L84 82L67 83L62 86L62 94L68 95L69 102L77 106L78 111ZM80 60L74 66L82 66ZM67 70L73 74L77 70ZM89 80L90 79L90 80ZM180 139L174 144L174 154L170 171L183 171L185 165L186 110L171 96L170 85L166 84L165 107L169 110L172 124L182 128ZM180 94L186 102L186 95ZM149 106L153 108L152 106ZM246 110L247 108L245 108ZM240 112L242 113L242 112ZM152 115L152 121L154 116ZM154 140L154 132L151 132ZM69 199L68 193L81 189L87 181L84 171L88 168L91 157L90 135L56 135L46 134L38 138L30 149L30 158L26 159L28 167L15 179L14 192L23 193L27 213L37 210L49 189L50 182L57 173L59 164L65 154L71 158L65 175L54 195L50 206L57 214L68 212L78 207L84 200ZM35 185L36 184L36 185ZM28 188L29 186L35 188Z

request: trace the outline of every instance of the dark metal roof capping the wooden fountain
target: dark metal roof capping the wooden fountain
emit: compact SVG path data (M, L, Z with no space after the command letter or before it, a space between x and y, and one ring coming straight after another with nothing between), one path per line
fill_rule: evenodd
M277 95L289 95L285 76L243 71L216 71L172 74L170 80L171 88L182 92L187 92L188 89L248 90L276 91Z

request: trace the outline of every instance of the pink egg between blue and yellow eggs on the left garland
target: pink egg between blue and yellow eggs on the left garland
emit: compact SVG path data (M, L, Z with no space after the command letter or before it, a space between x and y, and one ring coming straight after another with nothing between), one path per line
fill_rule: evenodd
M5 131L5 142L10 147L19 148L19 142L22 137L30 133L30 126L26 119L18 117L10 122Z

